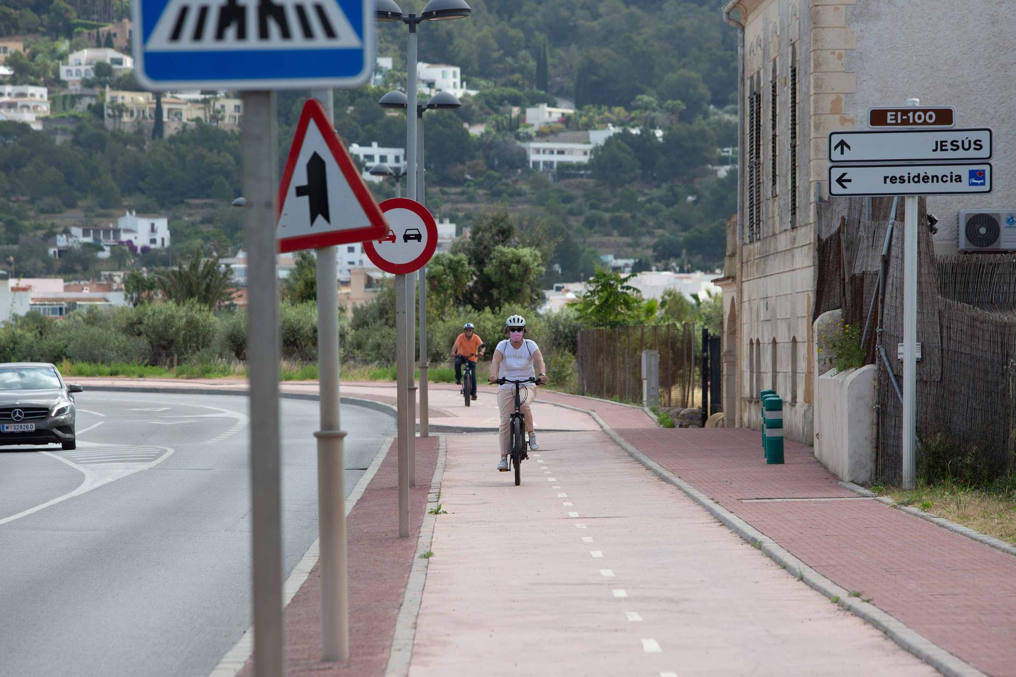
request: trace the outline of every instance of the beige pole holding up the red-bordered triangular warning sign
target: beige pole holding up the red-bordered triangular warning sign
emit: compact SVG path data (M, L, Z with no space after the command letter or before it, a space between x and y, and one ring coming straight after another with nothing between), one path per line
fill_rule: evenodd
M311 96L334 121L331 89ZM345 559L345 433L339 425L338 274L335 247L317 254L318 392L318 541L321 550L321 660L350 660L350 606Z

